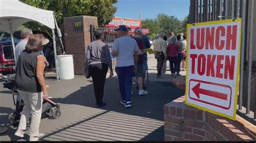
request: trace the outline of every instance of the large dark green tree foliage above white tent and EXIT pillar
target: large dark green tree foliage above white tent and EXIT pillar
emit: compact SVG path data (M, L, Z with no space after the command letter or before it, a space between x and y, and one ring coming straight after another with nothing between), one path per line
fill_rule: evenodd
M60 29L63 28L63 18L72 16L96 16L98 25L108 24L114 17L117 8L113 4L118 0L21 0L21 2L36 8L51 10L55 12L55 17ZM26 27L33 30L48 30L47 27L35 22L28 23Z

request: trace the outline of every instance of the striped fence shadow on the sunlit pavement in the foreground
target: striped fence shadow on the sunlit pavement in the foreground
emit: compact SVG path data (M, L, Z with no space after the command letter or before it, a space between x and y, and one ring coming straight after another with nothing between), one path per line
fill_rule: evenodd
M134 121L136 120L136 121ZM44 141L163 141L162 121L103 111L62 127Z

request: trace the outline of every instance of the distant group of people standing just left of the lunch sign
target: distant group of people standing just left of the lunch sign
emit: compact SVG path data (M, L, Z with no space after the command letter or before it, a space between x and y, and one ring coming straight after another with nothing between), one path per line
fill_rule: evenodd
M175 36L174 32L171 32L167 38L165 33L161 32L153 46L157 59L157 78L166 73L167 60L170 62L172 77L180 76L180 71L186 68L186 36L183 33Z

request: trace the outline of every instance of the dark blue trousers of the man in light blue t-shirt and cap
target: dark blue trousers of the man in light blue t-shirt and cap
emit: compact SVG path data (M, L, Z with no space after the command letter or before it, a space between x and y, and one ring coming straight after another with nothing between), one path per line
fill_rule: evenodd
M117 67L119 90L123 101L131 101L132 75L134 66Z

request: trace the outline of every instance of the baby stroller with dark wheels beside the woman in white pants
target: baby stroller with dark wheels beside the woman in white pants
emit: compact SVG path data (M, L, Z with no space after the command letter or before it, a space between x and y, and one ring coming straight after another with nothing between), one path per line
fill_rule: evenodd
M10 77L3 76L0 74L0 77L2 77L1 80L4 81L4 88L8 88L12 90L12 98L14 99L14 105L16 106L15 112L10 113L9 115L9 122L13 126L17 126L19 124L19 119L21 118L20 113L23 110L24 102L19 96L14 83L15 83L15 75L12 75ZM15 95L17 95L17 99L15 102ZM59 104L56 104L55 102L51 101L50 99L46 99L43 101L42 106L42 118L49 118L49 119L57 119L61 115ZM27 127L29 127L31 121L31 117L27 123Z

